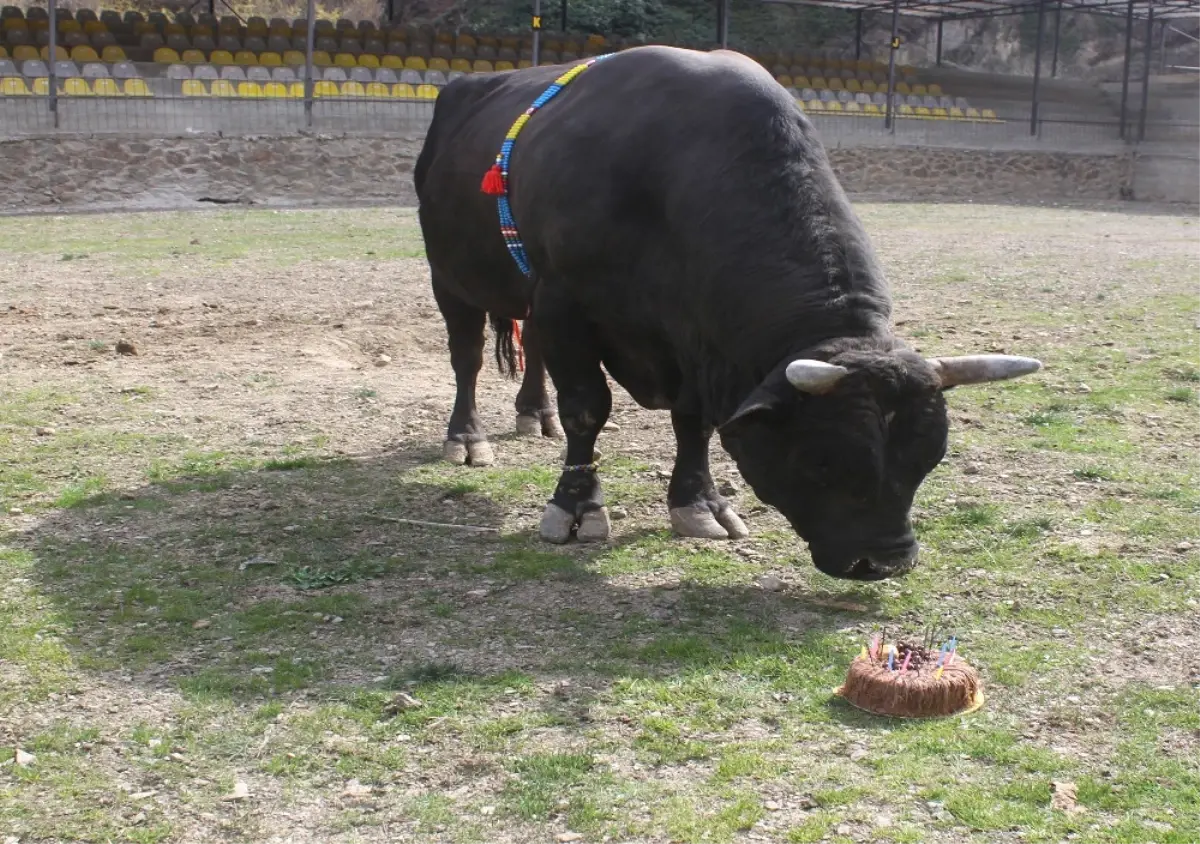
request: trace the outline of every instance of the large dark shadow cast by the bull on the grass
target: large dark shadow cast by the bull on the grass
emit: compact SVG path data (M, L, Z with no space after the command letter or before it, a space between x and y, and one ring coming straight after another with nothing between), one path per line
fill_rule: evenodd
M414 480L422 469L448 479ZM829 593L766 592L731 545L624 522L604 545L546 545L539 481L481 477L430 450L284 461L94 497L13 541L79 668L185 695L319 698L514 672L599 690L764 658L782 674L842 670L830 631L853 619L814 609ZM874 607L854 587L832 594Z

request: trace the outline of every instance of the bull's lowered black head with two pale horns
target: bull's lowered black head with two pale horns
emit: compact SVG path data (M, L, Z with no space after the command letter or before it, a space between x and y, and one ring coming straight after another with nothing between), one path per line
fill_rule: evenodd
M882 580L917 564L910 509L946 456L944 390L1040 367L1004 354L926 360L908 351L792 360L721 426L721 443L818 569Z

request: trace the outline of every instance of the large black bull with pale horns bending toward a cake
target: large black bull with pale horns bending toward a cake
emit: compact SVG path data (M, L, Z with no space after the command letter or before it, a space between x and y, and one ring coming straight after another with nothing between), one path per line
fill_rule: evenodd
M946 453L943 391L1038 361L925 359L893 335L883 271L812 125L762 67L730 52L631 49L533 115L509 181L526 277L480 184L512 121L564 70L450 83L416 163L457 382L445 456L491 461L475 409L485 319L511 367L512 321L524 318L517 429L566 436L545 539L608 535L594 460L612 407L607 370L641 406L671 411L677 533L746 535L709 473L716 430L822 571L874 580L911 569L913 495Z

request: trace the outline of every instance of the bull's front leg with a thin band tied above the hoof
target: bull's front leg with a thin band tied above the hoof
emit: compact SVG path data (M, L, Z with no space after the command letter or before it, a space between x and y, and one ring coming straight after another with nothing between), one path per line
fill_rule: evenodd
M541 538L565 543L571 532L582 541L608 538L608 510L596 473L596 437L608 421L612 391L600 369L592 328L569 303L538 304L546 369L558 391L558 413L566 435L563 474L541 516Z

